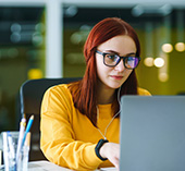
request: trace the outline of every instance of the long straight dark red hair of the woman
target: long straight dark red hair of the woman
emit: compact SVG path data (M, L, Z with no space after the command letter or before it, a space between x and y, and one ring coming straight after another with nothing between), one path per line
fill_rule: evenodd
M84 56L86 60L86 71L82 81L73 83L69 86L74 106L81 113L87 115L91 123L97 126L97 66L96 66L96 49L102 42L119 35L130 36L136 45L136 56L140 54L140 45L134 28L118 17L108 17L96 24L90 30L84 46ZM115 94L118 89L115 90ZM123 95L137 95L137 78L135 71L131 73L126 82L121 87L120 97ZM116 97L116 96L115 96ZM119 112L120 106L115 98L112 103L114 114Z

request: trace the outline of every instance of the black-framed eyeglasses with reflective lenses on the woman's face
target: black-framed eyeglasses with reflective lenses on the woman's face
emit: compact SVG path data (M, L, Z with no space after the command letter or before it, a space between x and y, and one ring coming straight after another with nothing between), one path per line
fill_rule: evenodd
M128 70L133 70L138 65L140 61L140 57L135 57L134 54L120 57L115 53L101 52L99 50L96 50L96 52L103 56L103 63L110 68L116 66L121 59L123 59L124 66Z

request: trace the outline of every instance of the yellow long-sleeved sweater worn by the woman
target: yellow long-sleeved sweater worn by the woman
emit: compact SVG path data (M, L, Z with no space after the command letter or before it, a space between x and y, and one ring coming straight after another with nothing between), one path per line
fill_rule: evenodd
M139 95L150 95L138 88ZM111 121L111 105L99 105L98 127L104 129ZM95 170L99 167L112 167L101 161L95 154L95 147L102 135L89 119L74 108L66 84L49 88L41 105L40 147L51 162L73 170ZM119 143L120 119L114 119L107 131L109 142Z

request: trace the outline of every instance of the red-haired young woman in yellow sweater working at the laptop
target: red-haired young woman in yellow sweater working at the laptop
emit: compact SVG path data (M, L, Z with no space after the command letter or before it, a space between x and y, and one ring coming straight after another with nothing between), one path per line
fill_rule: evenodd
M84 47L82 81L49 88L41 106L41 150L73 170L119 168L120 98L150 95L137 86L140 46L133 27L118 17L99 22Z

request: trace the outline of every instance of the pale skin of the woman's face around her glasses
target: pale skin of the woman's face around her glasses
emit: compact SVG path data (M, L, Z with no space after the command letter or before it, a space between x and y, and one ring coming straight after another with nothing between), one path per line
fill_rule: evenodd
M134 40L126 35L115 36L97 48L101 52L111 52L120 57L136 54L136 45ZM113 68L103 64L103 56L96 53L97 73L100 80L100 86L107 88L119 88L130 76L133 70L124 66L123 60Z

